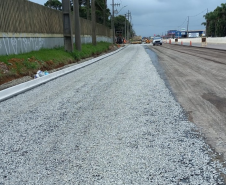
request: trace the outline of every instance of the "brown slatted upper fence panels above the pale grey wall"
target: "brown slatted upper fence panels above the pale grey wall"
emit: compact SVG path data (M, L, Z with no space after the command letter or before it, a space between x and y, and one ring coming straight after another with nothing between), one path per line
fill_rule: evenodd
M91 21L80 18L81 34L92 35ZM73 30L75 25L73 24ZM97 24L97 35L111 36L109 28ZM61 11L27 0L0 1L0 32L63 34Z

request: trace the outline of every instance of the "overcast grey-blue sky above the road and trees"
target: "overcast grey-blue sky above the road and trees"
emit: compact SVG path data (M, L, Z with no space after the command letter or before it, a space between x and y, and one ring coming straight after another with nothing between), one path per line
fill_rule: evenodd
M44 5L47 0L30 0ZM132 25L137 35L164 35L167 30L185 28L189 16L189 30L204 30L203 15L213 11L223 0L114 0L117 15L131 12ZM108 0L108 8L112 10L112 0Z

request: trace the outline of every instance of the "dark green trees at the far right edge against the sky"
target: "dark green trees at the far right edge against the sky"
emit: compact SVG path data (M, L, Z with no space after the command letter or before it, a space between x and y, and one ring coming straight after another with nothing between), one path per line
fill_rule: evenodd
M202 25L206 26L207 37L224 37L226 36L226 3L222 3L214 11L204 15L206 22Z

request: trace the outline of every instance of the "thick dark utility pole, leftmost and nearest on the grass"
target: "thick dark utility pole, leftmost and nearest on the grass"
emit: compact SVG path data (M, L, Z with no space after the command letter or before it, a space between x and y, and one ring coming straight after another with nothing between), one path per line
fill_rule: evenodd
M63 33L65 51L73 51L73 33L71 28L71 3L70 0L62 0Z

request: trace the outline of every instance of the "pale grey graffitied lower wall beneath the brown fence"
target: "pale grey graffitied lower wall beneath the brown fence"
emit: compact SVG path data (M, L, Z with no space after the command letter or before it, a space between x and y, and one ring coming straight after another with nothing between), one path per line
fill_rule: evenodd
M97 36L97 41L112 42L112 38ZM81 36L82 43L92 43L90 35ZM61 34L0 33L0 55L10 55L38 51L41 48L64 46Z

